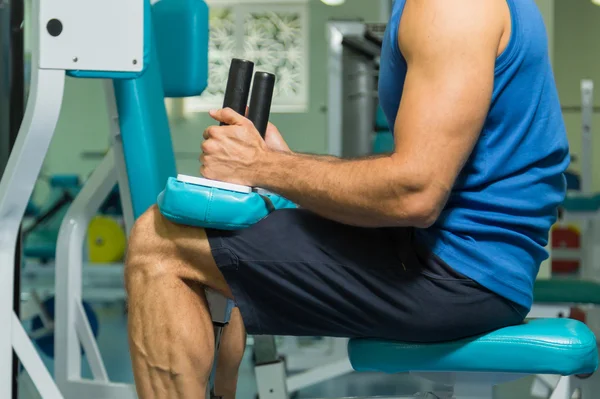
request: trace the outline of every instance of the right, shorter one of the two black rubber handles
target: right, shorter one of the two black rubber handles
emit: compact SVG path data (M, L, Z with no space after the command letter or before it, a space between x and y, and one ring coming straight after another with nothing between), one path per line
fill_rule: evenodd
M256 127L256 130L258 130L263 138L267 133L274 90L275 75L267 72L256 72L254 74L248 119L254 123L254 127Z

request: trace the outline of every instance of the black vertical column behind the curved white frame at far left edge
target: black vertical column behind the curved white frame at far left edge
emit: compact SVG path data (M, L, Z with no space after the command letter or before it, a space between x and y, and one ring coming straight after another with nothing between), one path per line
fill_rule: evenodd
M17 139L25 112L23 0L0 0L0 176ZM20 235L19 235L20 236ZM14 310L19 314L21 240L17 241ZM18 397L19 361L13 352L12 397Z

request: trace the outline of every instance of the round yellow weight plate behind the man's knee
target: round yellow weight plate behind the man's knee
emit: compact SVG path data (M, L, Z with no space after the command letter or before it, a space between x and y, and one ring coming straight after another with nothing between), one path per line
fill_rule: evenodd
M91 263L113 263L123 260L127 238L114 219L96 216L88 226L88 256Z

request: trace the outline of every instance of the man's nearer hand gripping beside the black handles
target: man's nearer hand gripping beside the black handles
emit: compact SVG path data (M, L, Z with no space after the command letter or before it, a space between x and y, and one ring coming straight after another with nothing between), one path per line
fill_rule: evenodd
M232 109L210 111L209 115L228 126L210 126L204 131L200 173L207 179L254 186L259 163L272 150L252 122Z

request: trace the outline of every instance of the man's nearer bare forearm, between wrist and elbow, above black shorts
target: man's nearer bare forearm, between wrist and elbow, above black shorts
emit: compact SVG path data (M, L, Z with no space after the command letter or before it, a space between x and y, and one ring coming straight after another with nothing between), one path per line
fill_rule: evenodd
M257 172L258 186L328 219L364 226L409 226L415 192L390 156L343 160L294 153L269 154ZM404 197L407 201L399 201ZM403 216L405 215L405 216Z

